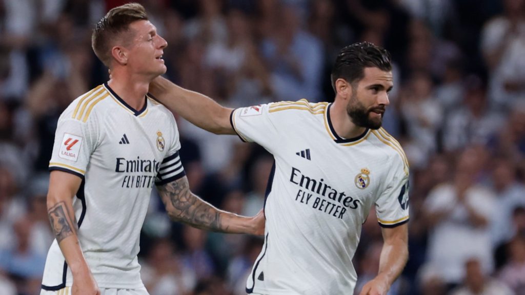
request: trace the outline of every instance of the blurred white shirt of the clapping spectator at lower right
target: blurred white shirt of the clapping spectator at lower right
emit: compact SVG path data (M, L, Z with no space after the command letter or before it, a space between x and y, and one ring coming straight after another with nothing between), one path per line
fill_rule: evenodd
M495 212L495 198L481 187L470 187L465 193L469 206L477 214L489 220ZM459 283L463 279L465 262L477 258L485 273L493 268L490 226L475 227L469 222L465 205L459 203L453 185L444 184L433 189L424 204L430 213L450 210L430 231L428 261L439 270L448 283Z

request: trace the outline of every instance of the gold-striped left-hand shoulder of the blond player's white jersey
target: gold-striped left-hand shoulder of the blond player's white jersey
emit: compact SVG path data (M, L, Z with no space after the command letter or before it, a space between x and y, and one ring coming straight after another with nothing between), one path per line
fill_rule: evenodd
M86 123L89 118L94 117L93 114L99 112L100 106L108 103L108 97L111 93L104 87L99 85L81 96L73 100L66 110L62 113L61 120L77 120Z

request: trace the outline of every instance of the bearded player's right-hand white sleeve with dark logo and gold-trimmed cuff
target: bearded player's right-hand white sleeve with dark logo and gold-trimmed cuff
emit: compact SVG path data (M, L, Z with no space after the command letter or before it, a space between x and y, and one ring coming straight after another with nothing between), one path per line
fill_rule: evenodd
M382 227L396 227L408 222L408 172L401 157L391 167L383 191L375 202L377 222Z

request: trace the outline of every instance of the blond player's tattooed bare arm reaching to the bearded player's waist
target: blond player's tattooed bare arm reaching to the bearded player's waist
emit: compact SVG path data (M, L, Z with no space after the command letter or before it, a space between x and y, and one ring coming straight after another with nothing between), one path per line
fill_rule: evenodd
M230 234L264 234L264 215L239 216L219 210L190 191L186 176L157 187L170 218L188 225Z

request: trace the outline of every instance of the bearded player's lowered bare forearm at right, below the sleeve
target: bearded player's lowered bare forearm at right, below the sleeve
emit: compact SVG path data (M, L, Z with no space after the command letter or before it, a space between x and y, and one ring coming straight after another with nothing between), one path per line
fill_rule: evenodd
M386 295L408 260L408 224L393 228L382 227L383 249L379 260L379 273L366 283L360 295Z

